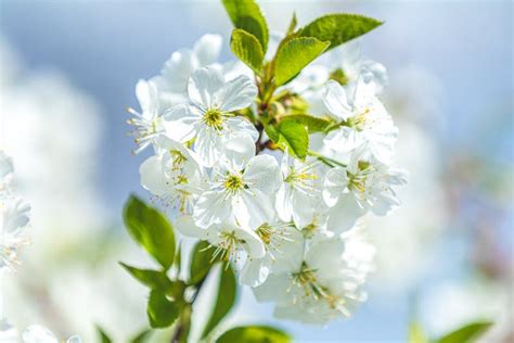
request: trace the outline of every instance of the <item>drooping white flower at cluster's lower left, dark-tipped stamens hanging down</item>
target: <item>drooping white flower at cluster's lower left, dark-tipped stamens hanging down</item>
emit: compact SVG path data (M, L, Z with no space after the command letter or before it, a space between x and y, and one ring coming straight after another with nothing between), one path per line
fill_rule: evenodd
M241 253L245 253L247 258L260 258L265 255L265 245L259 236L232 220L201 229L191 216L184 215L177 219L175 226L187 237L208 241L215 247L213 259L237 262Z

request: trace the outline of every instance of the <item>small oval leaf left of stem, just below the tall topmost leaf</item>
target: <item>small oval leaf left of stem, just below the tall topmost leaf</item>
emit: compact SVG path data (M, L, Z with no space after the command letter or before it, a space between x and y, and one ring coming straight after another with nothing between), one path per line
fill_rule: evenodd
M257 38L244 29L235 28L230 38L230 49L232 52L249 66L256 74L260 75L265 53Z

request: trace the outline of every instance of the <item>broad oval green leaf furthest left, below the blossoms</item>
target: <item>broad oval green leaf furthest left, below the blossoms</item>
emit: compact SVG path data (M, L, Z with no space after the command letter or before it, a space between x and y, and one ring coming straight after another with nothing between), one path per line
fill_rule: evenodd
M136 195L125 204L124 219L134 241L168 270L175 257L175 234L168 219Z

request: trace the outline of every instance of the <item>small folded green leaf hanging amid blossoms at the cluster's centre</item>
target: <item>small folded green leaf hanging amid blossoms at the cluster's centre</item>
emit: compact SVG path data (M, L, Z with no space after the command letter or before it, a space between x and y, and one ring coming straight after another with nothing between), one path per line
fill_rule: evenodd
M279 140L277 143L288 149L290 154L304 160L309 148L309 132L305 125L294 120L281 122L278 127Z

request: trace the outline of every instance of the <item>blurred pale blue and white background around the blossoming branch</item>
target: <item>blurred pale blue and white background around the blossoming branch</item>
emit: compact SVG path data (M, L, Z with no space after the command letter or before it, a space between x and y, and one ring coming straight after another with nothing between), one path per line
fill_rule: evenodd
M513 4L510 1L259 1L271 29L296 11L362 13L385 24L363 54L389 71L384 102L411 173L403 207L372 221L370 300L325 328L277 321L243 291L232 322L273 323L299 342L402 342L493 320L487 342L512 342ZM145 290L117 261L150 262L121 227L128 194L149 198L126 132L134 85L172 51L231 25L217 1L23 1L0 7L1 142L31 203L33 243L2 279L3 316L117 341L145 326Z

